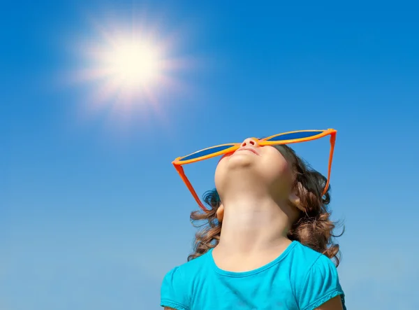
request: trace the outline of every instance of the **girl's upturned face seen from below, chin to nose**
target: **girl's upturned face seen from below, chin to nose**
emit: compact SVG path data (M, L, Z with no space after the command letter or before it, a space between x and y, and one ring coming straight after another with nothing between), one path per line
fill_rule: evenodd
M274 199L286 199L293 184L291 167L272 146L259 146L248 138L234 153L225 155L215 171L215 185L220 197L230 190L266 192ZM222 200L222 199L221 199Z

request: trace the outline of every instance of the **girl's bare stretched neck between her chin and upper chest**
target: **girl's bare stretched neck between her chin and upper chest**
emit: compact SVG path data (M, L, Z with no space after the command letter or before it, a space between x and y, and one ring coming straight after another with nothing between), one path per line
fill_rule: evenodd
M285 204L285 202L284 202ZM272 199L250 198L223 202L224 217L217 248L223 253L251 255L275 252L288 245L291 219Z

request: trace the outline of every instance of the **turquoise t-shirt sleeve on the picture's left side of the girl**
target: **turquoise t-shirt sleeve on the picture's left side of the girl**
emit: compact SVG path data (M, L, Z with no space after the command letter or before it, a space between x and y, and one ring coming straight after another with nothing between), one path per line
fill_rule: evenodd
M186 282L179 267L175 267L166 274L161 284L161 307L177 310L189 310L189 297Z

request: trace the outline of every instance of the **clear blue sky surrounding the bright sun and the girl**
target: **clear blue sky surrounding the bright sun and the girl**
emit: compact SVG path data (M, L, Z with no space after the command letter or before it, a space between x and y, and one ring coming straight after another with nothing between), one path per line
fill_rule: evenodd
M170 162L338 130L333 217L348 309L416 309L419 22L413 3L23 1L0 13L0 308L159 309L197 208ZM158 2L158 3L157 3ZM95 101L81 42L154 29L174 87ZM118 28L119 27L119 28ZM325 173L328 141L295 146ZM186 167L198 192L216 162Z

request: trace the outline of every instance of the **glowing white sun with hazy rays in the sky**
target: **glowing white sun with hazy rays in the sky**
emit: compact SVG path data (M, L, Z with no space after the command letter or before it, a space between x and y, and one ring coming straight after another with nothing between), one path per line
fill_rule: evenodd
M187 59L176 50L179 42L158 30L96 22L96 31L76 45L80 62L71 78L89 86L89 103L161 111L161 97L183 92L177 73L188 66Z

